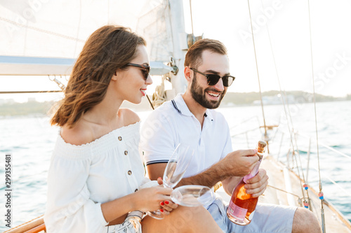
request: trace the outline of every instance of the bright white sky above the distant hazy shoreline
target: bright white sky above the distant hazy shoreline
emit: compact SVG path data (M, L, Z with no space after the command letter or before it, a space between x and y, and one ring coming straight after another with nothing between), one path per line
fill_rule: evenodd
M190 4L184 0L185 27L191 33ZM253 31L262 91L312 92L310 28L306 0L250 1ZM121 10L121 9L119 9ZM351 2L347 0L310 0L314 82L317 93L345 97L351 94ZM192 0L195 36L204 33L227 46L231 73L237 79L230 92L258 92L258 77L248 2L231 0ZM4 22L0 22L4 24ZM270 39L267 34L270 31ZM277 73L270 47L274 52ZM60 79L67 82L65 77ZM48 77L0 76L0 91L58 90ZM158 79L154 78L154 86ZM148 88L149 93L154 86ZM0 99L27 101L60 99L60 94L0 94Z

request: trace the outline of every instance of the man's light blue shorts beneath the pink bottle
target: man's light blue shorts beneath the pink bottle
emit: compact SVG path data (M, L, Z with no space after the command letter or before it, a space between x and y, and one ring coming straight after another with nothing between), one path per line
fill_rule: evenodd
M237 225L227 218L227 205L220 198L208 206L207 210L216 220L220 229L226 233L262 232L262 233L291 233L293 216L297 207L278 206L273 204L257 204L251 223L246 226Z

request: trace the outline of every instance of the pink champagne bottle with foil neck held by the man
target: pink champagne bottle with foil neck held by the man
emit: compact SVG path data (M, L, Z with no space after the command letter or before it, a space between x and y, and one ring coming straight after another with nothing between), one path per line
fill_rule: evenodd
M237 225L248 225L251 223L253 214L255 213L258 197L252 197L252 195L247 194L244 185L247 180L258 174L266 145L267 143L265 143L265 141L258 141L257 150L260 160L257 162L256 166L253 167L251 173L244 176L233 190L232 198L230 199L230 204L227 209L227 217Z

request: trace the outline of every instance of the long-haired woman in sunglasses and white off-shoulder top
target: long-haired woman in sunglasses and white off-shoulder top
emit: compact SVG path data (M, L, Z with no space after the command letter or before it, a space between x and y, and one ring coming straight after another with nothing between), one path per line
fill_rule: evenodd
M61 129L48 172L48 232L220 232L205 209L176 209L170 188L144 178L140 119L119 107L140 103L149 71L145 41L129 29L101 27L86 41L51 119ZM157 209L164 220L138 221Z

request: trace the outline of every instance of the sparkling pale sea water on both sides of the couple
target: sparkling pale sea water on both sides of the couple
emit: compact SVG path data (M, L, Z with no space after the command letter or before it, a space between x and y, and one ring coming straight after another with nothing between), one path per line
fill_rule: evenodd
M231 129L233 149L254 148L264 129L260 106L231 106L218 108L225 115ZM285 115L287 113L287 117ZM139 112L145 120L148 112ZM282 162L287 159L286 148L300 154L303 171L307 174L307 154L310 147L310 169L307 180L318 190L318 167L314 104L265 106L266 125L279 125L268 131L272 141L270 152ZM351 101L317 103L317 129L319 143L351 156ZM301 135L293 139L290 132ZM44 116L0 118L0 231L8 230L5 222L6 187L5 155L12 155L12 227L44 214L46 204L46 177L51 153L58 135L58 127L51 127ZM309 146L309 141L311 143ZM297 142L297 144L295 143ZM281 146L282 145L282 146ZM296 146L297 145L297 146ZM325 198L351 220L351 157L344 157L319 146L319 167ZM333 182L337 185L333 185Z

